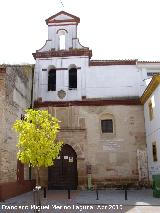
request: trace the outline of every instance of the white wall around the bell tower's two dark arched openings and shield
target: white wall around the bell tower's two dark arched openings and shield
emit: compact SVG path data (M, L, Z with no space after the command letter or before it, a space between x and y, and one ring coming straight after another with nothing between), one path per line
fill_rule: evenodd
M56 72L56 91L48 91L48 67L54 65L56 68L69 68L70 65L77 68L77 89L69 90L68 70L57 70ZM85 72L88 64L87 57L54 58L48 60L37 60L35 66L35 90L34 100L41 97L43 101L67 101L81 100L86 94ZM47 69L47 71L42 71ZM66 96L60 99L57 92L64 90Z

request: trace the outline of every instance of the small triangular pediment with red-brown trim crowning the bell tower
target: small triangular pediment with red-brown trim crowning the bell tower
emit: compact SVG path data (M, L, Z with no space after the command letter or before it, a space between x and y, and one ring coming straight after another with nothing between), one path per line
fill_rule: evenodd
M80 19L78 17L70 14L70 13L65 12L65 11L61 11L61 12L49 17L48 19L46 19L47 24L63 23L63 22L79 23Z

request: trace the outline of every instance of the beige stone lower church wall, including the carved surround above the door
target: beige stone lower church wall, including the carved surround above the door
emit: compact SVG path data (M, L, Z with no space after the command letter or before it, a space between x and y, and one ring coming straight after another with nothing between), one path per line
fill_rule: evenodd
M87 186L87 166L91 166L93 186L139 180L137 150L145 150L143 106L45 107L60 121L58 139L77 153L78 184ZM101 119L112 116L113 134L102 133ZM46 174L46 175L45 175ZM47 171L43 172L47 182Z

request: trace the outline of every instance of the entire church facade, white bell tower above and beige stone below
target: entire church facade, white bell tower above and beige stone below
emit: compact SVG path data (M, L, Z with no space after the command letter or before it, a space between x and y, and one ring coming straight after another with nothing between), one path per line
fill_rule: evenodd
M91 60L92 51L77 38L79 22L64 11L48 18L48 40L33 53L34 107L61 121L58 137L66 153L43 170L43 183L84 188L147 182L139 99L146 74L137 60Z

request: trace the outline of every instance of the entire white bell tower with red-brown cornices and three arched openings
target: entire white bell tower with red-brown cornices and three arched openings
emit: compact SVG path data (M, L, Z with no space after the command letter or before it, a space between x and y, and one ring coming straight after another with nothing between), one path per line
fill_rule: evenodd
M80 18L65 11L46 19L48 39L33 53L34 101L82 100L86 95L86 66L92 51L77 38L79 23Z

